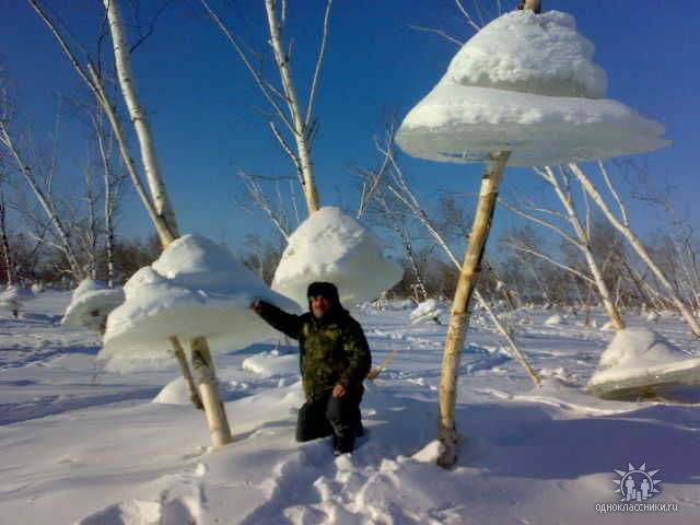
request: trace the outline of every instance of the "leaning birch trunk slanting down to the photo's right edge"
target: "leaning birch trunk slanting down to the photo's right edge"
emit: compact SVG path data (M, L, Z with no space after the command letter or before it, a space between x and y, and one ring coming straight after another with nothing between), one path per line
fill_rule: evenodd
M698 323L698 319L696 319L696 316L692 314L690 308L686 305L682 299L680 299L676 289L673 287L670 281L668 281L668 279L666 278L662 269L651 257L651 255L644 247L644 244L634 234L627 219L625 219L623 221L620 221L615 215L615 213L612 213L612 210L603 198L603 195L600 195L598 189L591 182L591 179L583 172L583 170L581 170L576 164L570 164L569 167L574 173L574 175L579 178L579 180L581 180L582 186L585 188L586 192L591 196L591 198L595 200L596 205L598 205L598 207L600 208L605 217L622 235L627 237L632 248L634 248L637 254L642 258L642 260L644 260L644 262L646 262L646 266L649 266L649 268L652 270L652 272L654 273L654 277L656 277L656 279L658 279L658 281L664 285L674 305L680 311L682 316L686 318L686 322L690 326L690 329L696 335L696 337L700 337L700 324ZM621 201L619 199L618 199L618 203L621 206ZM627 217L626 213L625 213L625 217Z

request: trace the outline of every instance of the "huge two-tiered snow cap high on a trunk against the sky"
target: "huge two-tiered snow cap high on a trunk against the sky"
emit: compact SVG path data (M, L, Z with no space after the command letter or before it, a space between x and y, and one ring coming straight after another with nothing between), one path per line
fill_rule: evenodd
M467 42L397 133L408 154L442 162L562 165L655 150L664 127L602 98L605 71L574 19L514 11Z

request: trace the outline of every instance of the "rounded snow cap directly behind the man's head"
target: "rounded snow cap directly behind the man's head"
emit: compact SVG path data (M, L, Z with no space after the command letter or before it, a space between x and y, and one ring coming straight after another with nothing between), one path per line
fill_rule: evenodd
M380 240L339 208L320 208L289 237L272 290L308 307L314 281L338 287L346 307L371 301L396 284L401 267L384 256Z

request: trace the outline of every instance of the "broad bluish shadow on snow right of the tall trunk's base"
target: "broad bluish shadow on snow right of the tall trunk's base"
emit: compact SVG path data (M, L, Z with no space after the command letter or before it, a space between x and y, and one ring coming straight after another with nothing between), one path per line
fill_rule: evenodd
M700 485L700 419L691 407L653 405L625 413L552 419L529 405L466 405L457 428L477 440L459 465L499 476L574 479L646 463L661 479Z

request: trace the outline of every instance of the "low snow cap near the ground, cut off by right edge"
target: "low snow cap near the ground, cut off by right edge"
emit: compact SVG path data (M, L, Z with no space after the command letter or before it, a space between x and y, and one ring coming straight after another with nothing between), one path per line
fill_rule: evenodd
M605 395L645 385L698 382L700 359L690 358L654 330L635 326L616 334L586 389Z

